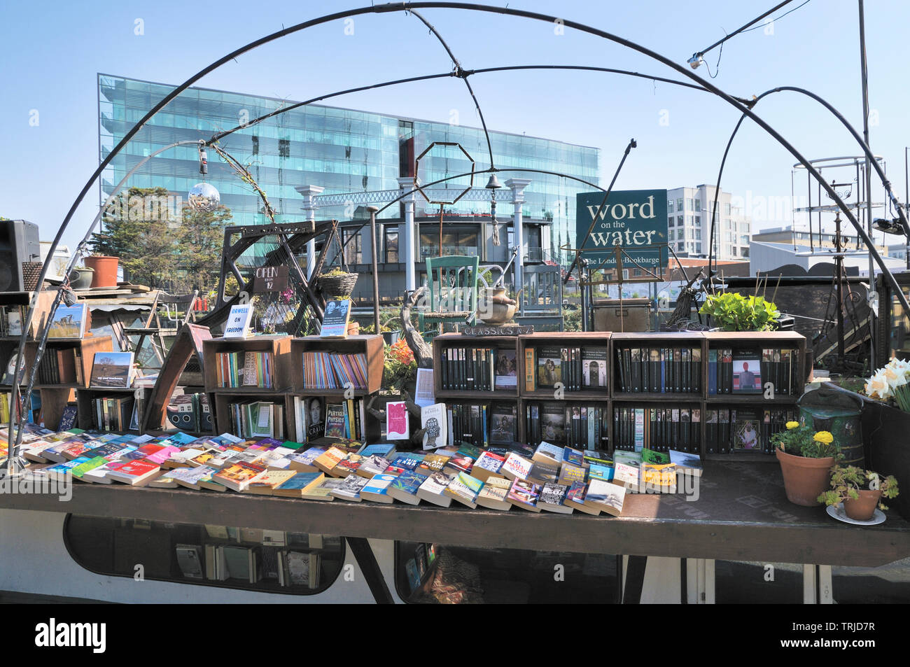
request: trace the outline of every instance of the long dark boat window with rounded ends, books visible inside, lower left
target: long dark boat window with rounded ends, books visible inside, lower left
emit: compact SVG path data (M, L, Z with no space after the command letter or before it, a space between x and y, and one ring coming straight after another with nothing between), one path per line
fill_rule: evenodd
M64 542L88 571L285 595L315 595L338 578L333 535L68 514Z

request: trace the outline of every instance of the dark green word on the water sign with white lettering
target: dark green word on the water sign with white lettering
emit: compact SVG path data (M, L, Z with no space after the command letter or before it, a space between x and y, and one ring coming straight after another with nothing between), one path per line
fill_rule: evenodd
M601 268L615 267L615 247L621 246L624 267L632 262L644 268L667 265L666 190L613 191L600 208L602 203L602 192L576 196L575 248L583 250L585 258Z

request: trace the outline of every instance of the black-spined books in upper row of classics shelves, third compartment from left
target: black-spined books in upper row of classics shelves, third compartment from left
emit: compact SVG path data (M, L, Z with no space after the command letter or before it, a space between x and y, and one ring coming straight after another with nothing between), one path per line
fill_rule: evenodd
M617 348L619 391L631 393L699 393L702 349Z

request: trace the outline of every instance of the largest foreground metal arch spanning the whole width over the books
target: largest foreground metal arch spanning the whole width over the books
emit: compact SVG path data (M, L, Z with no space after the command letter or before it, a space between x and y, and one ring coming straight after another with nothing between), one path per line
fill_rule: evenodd
M116 157L116 155L119 154L119 152L123 149L123 147L125 147L126 144L129 143L129 141L131 141L134 136L136 136L136 133L138 133L138 131L143 126L146 125L146 123L148 122L149 119L151 119L153 116L155 116L162 108L167 106L167 104L169 104L175 97L177 97L180 93L182 93L184 90L186 90L187 87L194 84L197 80L199 80L203 76L206 76L210 72L216 70L218 67L226 64L227 62L230 62L231 60L235 59L236 57L241 56L244 53L247 53L248 51L250 51L260 45L268 44L269 42L272 42L272 41L278 39L279 37L283 37L286 35L292 35L296 32L299 32L300 30L304 30L304 29L306 29L308 27L312 27L314 25L321 25L324 23L328 23L329 21L347 18L350 16L357 16L357 15L387 14L387 13L399 12L399 11L409 12L415 8L421 8L421 9L422 8L440 8L440 9L476 11L476 12L484 12L484 13L488 13L488 14L518 16L518 17L522 17L522 18L529 18L532 20L543 21L546 23L555 23L555 22L559 21L561 25L565 25L565 26L574 28L583 33L599 36L599 37L607 39L611 42L614 42L616 44L630 48L633 51L636 51L638 53L641 53L644 56L648 56L654 60L657 60L658 62L662 63L663 65L671 67L673 70L688 77L689 79L692 79L697 84L701 85L703 87L703 89L705 89L706 91L713 93L715 96L718 96L721 99L723 99L724 102L727 102L728 104L732 105L733 107L743 111L743 116L751 117L758 126L762 127L763 130L765 130L765 132L767 132L768 134L773 136L773 138L779 144L781 144L784 148L786 148L794 157L796 157L797 160L799 160L800 162L803 162L806 165L806 169L812 174L812 176L817 181L819 181L821 183L822 187L824 187L825 191L832 198L832 200L834 200L834 202L839 207L841 207L841 209L844 212L844 215L847 217L847 219L851 222L851 224L857 230L857 232L859 233L859 236L863 238L864 243L869 248L870 254L873 255L873 257L879 264L879 267L882 268L883 274L889 280L892 287L895 288L896 296L899 298L902 305L907 310L910 310L910 303L908 303L907 298L905 297L903 291L901 290L900 286L897 284L894 275L885 266L884 260L881 258L881 256L878 254L878 252L875 250L872 239L868 236L868 234L866 234L863 227L859 224L859 222L853 216L853 214L851 213L849 208L844 204L844 201L840 197L837 196L836 192L834 192L834 189L832 187L830 187L830 186L828 186L828 184L824 183L824 179L821 177L821 175L818 173L818 171L816 169L814 169L814 167L812 167L811 165L808 164L808 161L806 160L806 158L790 142L788 142L784 138L784 136L782 136L780 133L778 133L776 130L774 130L773 127L768 125L760 116L756 116L749 106L743 104L743 102L740 101L739 99L734 98L733 96L730 96L729 94L725 93L723 90L721 90L717 86L714 86L710 81L707 81L707 80L703 79L702 77L695 75L693 72L688 71L683 66L676 64L669 58L661 56L660 54L652 51L651 49L649 49L645 46L639 45L635 42L632 42L631 40L627 40L627 39L622 38L617 35L612 35L611 33L608 33L606 31L600 30L598 28L594 28L590 25L585 25L585 24L581 24L576 21L572 21L571 19L562 19L557 16L544 15L544 14L540 14L537 12L529 12L529 11L525 11L525 10L521 10L521 9L510 8L508 5L505 7L499 7L499 6L492 6L492 5L478 5L478 4L471 4L471 3L454 3L454 2L438 2L438 3L430 3L430 2L407 3L407 2L404 2L404 3L400 3L400 4L396 3L396 4L387 4L387 5L371 5L369 7L359 7L356 9L349 9L349 10L345 10L345 11L341 11L341 12L336 12L336 13L333 13L330 15L323 15L318 18L310 19L308 21L299 23L297 25L292 25L288 28L283 28L282 30L279 30L270 35L265 35L263 37L260 37L258 40L250 42L248 45L241 46L240 48L235 49L234 51L227 54L226 56L222 56L221 58L219 58L217 61L215 61L211 65L209 65L209 66L203 68L202 70L200 70L199 72L197 72L197 74L190 76L183 84L176 86L169 94L167 94L167 96L164 96L157 103L156 106L154 106L152 109L150 109L147 112L147 114L145 116L143 116L136 123L136 125L133 126L126 133L126 135L118 142L116 147L114 147L113 150L107 155L107 157L105 157L101 161L101 163L96 168L95 172L86 181L85 186L80 190L78 196L76 197L76 200L73 202L72 206L70 207L69 211L67 212L63 223L57 230L56 236L54 237L54 240L51 243L51 247L48 249L47 257L53 258L54 251L56 250L57 246L59 245L60 239L62 238L63 233L66 230L66 227L68 226L73 215L76 213L76 208L81 204L81 202L85 198L88 190L92 187L92 185L95 183L97 177L100 176L100 174L104 171L104 169L107 167L107 165L110 164L111 160L114 157ZM461 74L462 74L462 76L465 76L465 74L463 72ZM489 135L488 135L488 137L489 137ZM491 165L490 169L495 170L495 167L492 167L492 165ZM898 211L899 211L899 215L902 219L902 222L905 225L905 228L910 228L910 226L907 225L906 218L905 218L903 212L901 211L900 207L898 207ZM50 268L50 261L48 259L48 260L45 260L45 264L42 267L41 273L38 277L39 285L42 285L44 283L44 280L46 278L47 271L49 268ZM30 308L25 317L25 323L23 325L23 334L20 337L20 349L19 349L18 357L16 359L14 377L17 377L19 369L22 368L24 360L25 360L25 353L24 353L25 339L27 338L27 331L29 330L29 328L31 326L32 318L34 317L34 314L35 314L36 303L37 303L37 294L33 295L32 303L30 304ZM16 399L15 404L16 404L16 406L18 406L19 399L18 399L18 386L17 385L14 386L14 397ZM15 440L16 440L15 445L13 447L11 447L8 452L10 472L13 472L16 450L22 440L23 432L21 429L21 425L25 423L24 418L25 418L25 415L21 415L19 417L18 426L20 428L18 428L16 430L17 432L16 432L16 438L15 438ZM9 440L12 440L12 437L13 437L12 421L13 420L11 419L10 420L11 429L10 429L10 433L8 434Z

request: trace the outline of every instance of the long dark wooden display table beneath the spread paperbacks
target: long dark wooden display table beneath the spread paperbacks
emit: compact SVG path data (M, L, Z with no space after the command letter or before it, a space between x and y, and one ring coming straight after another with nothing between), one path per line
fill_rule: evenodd
M76 482L72 500L0 494L0 508L257 526L452 546L875 567L910 556L910 523L855 527L784 496L776 462L709 461L699 498L630 495L618 518L395 503L291 500L231 491Z

